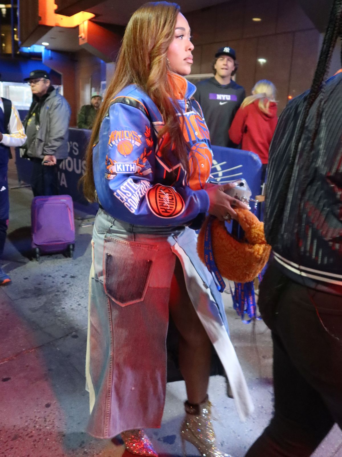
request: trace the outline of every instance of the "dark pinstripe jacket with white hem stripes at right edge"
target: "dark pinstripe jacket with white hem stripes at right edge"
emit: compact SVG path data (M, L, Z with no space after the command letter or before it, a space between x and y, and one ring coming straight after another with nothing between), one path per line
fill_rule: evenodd
M305 92L285 108L270 146L265 234L284 272L337 286L342 293L342 74L326 82L310 109L284 213L274 221L307 96ZM279 227L276 234L271 233L273 223Z

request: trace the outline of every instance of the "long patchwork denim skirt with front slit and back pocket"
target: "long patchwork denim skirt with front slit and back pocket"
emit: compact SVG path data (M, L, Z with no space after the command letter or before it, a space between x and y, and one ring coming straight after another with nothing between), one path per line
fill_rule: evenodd
M226 372L237 412L245 420L253 411L221 294L197 255L194 230L131 225L100 209L92 240L86 356L87 431L92 436L112 438L124 430L160 427L176 256L189 298Z

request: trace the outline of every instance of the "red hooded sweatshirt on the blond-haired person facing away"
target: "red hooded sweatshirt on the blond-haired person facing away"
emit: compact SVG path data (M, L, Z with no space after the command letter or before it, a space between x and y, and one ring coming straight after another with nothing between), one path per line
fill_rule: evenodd
M268 163L268 149L278 122L277 103L271 101L268 112L262 112L259 100L255 100L238 109L229 129L232 142L242 143L243 150L258 154L263 164Z

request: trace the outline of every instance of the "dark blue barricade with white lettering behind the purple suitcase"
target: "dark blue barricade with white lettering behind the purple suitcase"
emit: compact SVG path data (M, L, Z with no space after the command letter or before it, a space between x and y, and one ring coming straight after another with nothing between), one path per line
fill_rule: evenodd
M85 170L85 151L87 149L91 132L80 128L69 128L68 157L59 166L58 179L59 191L63 195L70 195L76 208L96 214L99 205L89 203L83 197L78 187L79 178ZM30 183L32 162L20 157L19 149L16 149L16 169L19 181Z

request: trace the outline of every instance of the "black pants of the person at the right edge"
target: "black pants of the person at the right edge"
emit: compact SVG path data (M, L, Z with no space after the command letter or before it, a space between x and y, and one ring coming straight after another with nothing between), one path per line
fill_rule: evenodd
M274 417L246 457L307 457L342 428L342 297L291 281L274 260L259 308L273 337Z

